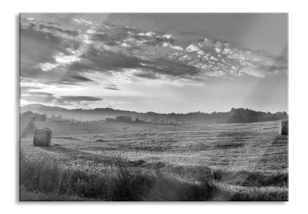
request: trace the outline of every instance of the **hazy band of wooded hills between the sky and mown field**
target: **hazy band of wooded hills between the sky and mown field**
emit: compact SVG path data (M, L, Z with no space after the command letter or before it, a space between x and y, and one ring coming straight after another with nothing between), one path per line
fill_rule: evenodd
M111 108L96 109L65 109L57 106L46 106L41 104L31 104L21 107L21 112L32 111L38 114L47 114L47 118L59 117L69 118L74 121L102 121L106 118L115 118L118 116L132 117L132 120L144 120L153 123L244 123L257 121L274 121L287 118L286 112L261 112L244 108L232 108L229 112L191 112L191 113L138 113L134 111L115 110Z

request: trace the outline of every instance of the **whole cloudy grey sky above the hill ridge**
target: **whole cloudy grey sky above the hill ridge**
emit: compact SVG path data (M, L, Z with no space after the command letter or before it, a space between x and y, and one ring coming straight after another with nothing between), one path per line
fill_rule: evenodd
M21 105L288 111L287 14L20 15Z

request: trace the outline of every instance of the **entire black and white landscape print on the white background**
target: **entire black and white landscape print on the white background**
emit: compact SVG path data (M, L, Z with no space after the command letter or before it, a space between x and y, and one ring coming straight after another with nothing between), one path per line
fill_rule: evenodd
M18 18L19 202L289 201L288 13Z

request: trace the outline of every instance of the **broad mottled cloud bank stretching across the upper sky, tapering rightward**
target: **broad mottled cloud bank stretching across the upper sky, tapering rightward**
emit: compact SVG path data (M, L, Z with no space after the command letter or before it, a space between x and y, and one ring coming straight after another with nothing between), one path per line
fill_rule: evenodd
M187 47L183 41L184 33L171 35L107 23L96 26L92 20L94 24L89 26L85 20L76 19L78 23L74 22L72 28L22 20L21 81L60 86L98 82L99 78L90 77L97 73L113 79L121 75L133 82L139 77L149 80L172 77L204 80L204 76L211 75L262 77L287 70L286 57L275 58L265 51L244 48L242 44L214 37L197 40L199 33L188 33L198 36L194 37L197 41L191 40ZM76 30L70 30L76 26ZM218 60L223 64L216 64ZM105 89L119 90L115 85Z

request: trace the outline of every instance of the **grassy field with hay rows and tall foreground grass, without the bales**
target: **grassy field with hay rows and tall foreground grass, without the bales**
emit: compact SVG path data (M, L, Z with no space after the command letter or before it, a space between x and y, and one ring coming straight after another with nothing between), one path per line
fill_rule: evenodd
M20 200L288 200L288 136L275 122L91 125L36 123L53 138L21 139Z

